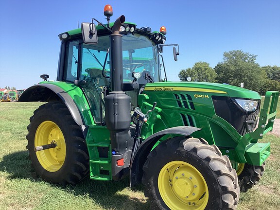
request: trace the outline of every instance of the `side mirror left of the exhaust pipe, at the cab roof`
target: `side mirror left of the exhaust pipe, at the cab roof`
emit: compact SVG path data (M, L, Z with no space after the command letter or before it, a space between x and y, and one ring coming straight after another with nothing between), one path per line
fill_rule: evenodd
M83 40L86 44L98 44L98 37L95 24L93 23L81 23Z

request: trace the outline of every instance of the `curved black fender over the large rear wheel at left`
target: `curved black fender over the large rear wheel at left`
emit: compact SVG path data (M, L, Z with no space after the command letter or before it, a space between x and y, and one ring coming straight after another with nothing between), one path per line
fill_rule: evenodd
M62 101L69 109L74 121L84 125L84 119L77 105L64 89L52 84L37 84L27 88L19 97L19 102Z

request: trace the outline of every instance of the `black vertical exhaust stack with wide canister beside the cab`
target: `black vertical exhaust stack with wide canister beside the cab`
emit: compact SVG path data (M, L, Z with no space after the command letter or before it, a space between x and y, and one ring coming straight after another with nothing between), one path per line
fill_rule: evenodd
M110 131L112 150L116 155L126 152L128 140L131 139L131 99L123 92L123 36L120 35L120 27L124 21L124 16L119 17L110 35L112 91L105 97L105 122ZM114 175L113 171L112 174Z

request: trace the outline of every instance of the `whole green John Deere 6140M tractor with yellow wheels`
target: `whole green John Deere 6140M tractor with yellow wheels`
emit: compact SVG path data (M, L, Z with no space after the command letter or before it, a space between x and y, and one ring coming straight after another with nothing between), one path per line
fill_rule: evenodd
M57 81L41 75L19 98L47 102L27 127L37 175L60 185L129 176L153 210L235 210L263 174L270 143L258 140L273 128L279 92L261 108L251 90L170 82L161 53L179 52L164 28L110 23L110 5L104 14L107 24L92 18L60 34Z

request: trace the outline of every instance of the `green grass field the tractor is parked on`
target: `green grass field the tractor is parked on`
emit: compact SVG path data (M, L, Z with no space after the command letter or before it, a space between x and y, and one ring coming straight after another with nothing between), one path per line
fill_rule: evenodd
M130 189L128 179L98 182L86 178L75 187L62 188L36 177L25 136L29 118L41 104L0 103L0 210L149 209L142 186ZM261 181L241 193L239 210L279 210L280 137L270 134L263 141L271 142L272 154Z

